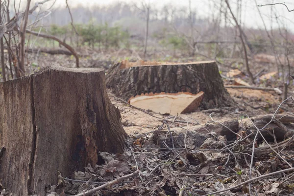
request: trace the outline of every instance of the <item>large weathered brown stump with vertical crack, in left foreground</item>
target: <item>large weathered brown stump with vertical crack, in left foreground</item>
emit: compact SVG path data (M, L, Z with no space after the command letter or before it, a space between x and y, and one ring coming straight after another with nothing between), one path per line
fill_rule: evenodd
M97 68L49 67L0 82L0 183L16 196L46 195L64 176L123 152L120 112Z

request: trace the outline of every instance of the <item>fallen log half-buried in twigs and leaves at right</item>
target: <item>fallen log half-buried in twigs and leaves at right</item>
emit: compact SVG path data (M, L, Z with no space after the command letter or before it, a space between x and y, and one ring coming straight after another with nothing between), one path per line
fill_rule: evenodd
M247 134L250 134L252 131L255 131L256 133L256 129L252 126L253 124L251 121L253 121L253 123L261 129L271 121L271 118L272 115L264 115L252 117L250 119L243 119L242 121L231 119L218 123L206 123L204 125L193 126L187 131L187 133L185 130L182 130L173 131L170 134L167 131L159 130L153 133L154 136L152 139L154 144L157 144L160 147L165 148L165 145L167 145L170 148L182 148L185 146L184 138L186 135L187 138L191 139L189 143L192 144L193 147L197 148L200 147L208 137L210 137L209 133L215 132L215 136L225 136L227 141L232 142L237 139L237 134L240 130L247 130ZM282 126L280 125L281 123ZM277 142L280 142L280 147L285 147L287 143L283 142L285 138L291 137L294 134L294 125L292 123L294 123L293 116L276 115L274 121L269 123L269 125L264 130L261 130L261 134L267 139L268 142L274 142L274 140L276 140ZM251 134L251 139L254 139L255 133ZM260 143L263 140L262 136L260 135L257 137L257 139ZM292 141L293 140L291 140L290 143L287 143L287 147L292 147ZM274 148L276 148L276 146ZM267 154L270 150L270 147L257 148L258 152L263 151L261 154Z

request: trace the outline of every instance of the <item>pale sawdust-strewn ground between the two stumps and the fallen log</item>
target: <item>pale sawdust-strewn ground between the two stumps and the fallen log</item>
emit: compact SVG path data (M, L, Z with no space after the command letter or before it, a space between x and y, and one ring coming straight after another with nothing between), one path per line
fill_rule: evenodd
M274 92L265 92L251 89L227 89L237 105L233 108L216 108L193 112L191 114L179 114L176 117L170 115L160 115L152 111L150 114L170 121L189 121L193 123L205 124L212 122L210 114L214 121L226 121L232 118L242 118L247 114L249 116L270 114L276 109L280 100ZM162 120L154 118L140 110L130 107L108 92L111 102L118 107L122 116L123 128L129 135L147 133L156 130L163 123ZM186 123L171 123L171 130L178 128L185 129ZM182 128L181 128L182 127ZM193 126L189 126L193 128Z

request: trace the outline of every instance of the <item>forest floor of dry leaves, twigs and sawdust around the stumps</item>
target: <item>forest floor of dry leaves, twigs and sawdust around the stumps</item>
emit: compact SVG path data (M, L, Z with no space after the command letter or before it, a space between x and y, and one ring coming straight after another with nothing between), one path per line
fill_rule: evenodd
M122 55L122 53L120 55L117 53L107 54L106 57L102 54L96 55L95 58L83 57L80 59L80 65L107 69L116 61L126 58L126 54ZM74 67L75 65L72 56L43 53L39 56L30 55L31 72L37 71L38 67L46 67L48 64L66 67ZM133 55L133 53L128 55ZM193 61L191 58L170 60L172 62ZM163 61L167 61L167 59L163 59ZM245 74L225 76L234 69L245 73L242 63L238 63L242 62L241 59L223 61L227 62L219 64L219 69L223 76L224 85L234 84L235 78L249 82ZM253 74L257 74L263 69L265 70L263 74L265 74L273 72L275 67L272 64L258 64L254 68ZM261 75L257 75L257 77ZM257 81L256 86L282 89L278 74L266 80ZM289 96L293 90L293 87L290 87ZM61 190L56 190L57 186L52 186L48 190L49 195L56 196L58 191L65 195L87 193L87 190L97 188L98 185L95 182L106 183L120 179L126 174L132 176L126 181L122 179L122 183L115 182L112 187L98 189L97 194L109 196L241 196L249 194L271 196L292 194L294 182L291 180L293 176L291 162L294 160L292 158L294 153L290 147L293 146L293 137L287 139L284 133L280 134L284 129L292 130L292 124L282 120L281 122L275 121L276 124L280 123L286 126L286 128L279 128L280 126L267 120L268 116L256 121L256 123L260 123L259 128L270 123L268 128L271 128L273 132L269 134L282 135L280 138L276 137L278 139L271 138L269 140L271 149L278 147L278 149L275 148L276 151L284 150L283 153L279 151L278 154L274 154L268 151L260 136L256 137L257 139L254 137L257 134L256 130L253 131L254 120L251 122L247 118L247 116L273 114L277 108L279 108L278 115L286 115L293 111L292 106L289 104L279 106L282 101L281 95L274 91L231 88L227 88L227 91L236 102L235 106L177 116L160 115L152 111L143 112L131 107L108 91L110 100L121 112L123 128L130 136L127 142L128 147L123 154L111 155L101 152L100 156L105 161L104 164L96 165L94 168L86 167L84 172L74 172L72 178L79 180L79 182L62 178L65 186ZM163 119L169 122L165 123ZM189 122L188 126L187 122ZM203 132L197 133L199 124L207 129L212 127L213 132L214 128L218 131L217 125L221 122L224 122L228 127L232 126L232 132L219 137L215 135L209 137L207 134L204 136ZM234 130L232 125L234 123L237 123L237 128L241 127L241 129ZM165 137L163 143L162 135ZM239 136L242 136L242 139ZM283 140L287 141L286 145ZM255 154L254 150L257 151ZM137 170L140 170L139 175ZM138 177L134 178L133 176L136 175ZM247 180L249 181L243 185L242 183Z

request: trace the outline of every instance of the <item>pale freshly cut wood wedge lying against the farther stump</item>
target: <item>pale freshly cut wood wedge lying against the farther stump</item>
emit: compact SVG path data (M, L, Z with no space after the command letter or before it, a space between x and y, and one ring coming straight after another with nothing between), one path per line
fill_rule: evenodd
M129 99L129 103L160 114L185 114L196 111L203 98L203 92L191 93L149 93Z

